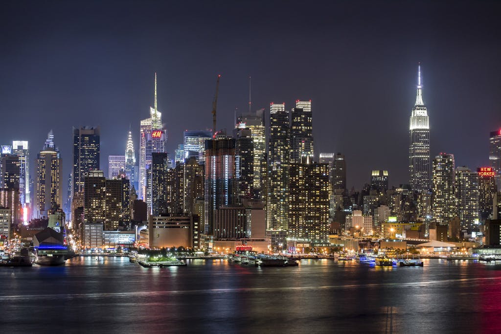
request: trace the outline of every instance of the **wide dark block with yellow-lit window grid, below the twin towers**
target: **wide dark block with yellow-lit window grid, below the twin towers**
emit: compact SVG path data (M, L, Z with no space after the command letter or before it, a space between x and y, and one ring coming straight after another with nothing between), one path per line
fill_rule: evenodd
M329 165L303 156L290 166L288 236L313 244L329 241Z

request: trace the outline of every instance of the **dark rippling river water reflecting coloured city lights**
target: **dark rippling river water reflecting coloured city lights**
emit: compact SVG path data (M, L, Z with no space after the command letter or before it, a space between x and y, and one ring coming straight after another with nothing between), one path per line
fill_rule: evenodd
M302 260L248 267L191 260L143 268L77 257L60 267L0 267L11 332L499 332L501 264L424 260L374 267Z

